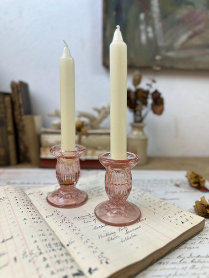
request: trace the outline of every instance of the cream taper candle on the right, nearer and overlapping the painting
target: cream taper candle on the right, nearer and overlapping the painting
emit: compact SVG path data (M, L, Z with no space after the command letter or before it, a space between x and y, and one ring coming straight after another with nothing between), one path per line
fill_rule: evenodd
M120 26L110 45L111 159L126 159L127 47Z

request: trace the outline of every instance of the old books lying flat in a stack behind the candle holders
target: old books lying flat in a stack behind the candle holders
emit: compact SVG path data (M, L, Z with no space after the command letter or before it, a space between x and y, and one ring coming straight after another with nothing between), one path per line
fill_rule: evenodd
M80 165L83 168L103 168L98 161L98 155L110 151L110 129L90 129L88 135L76 134L76 144L86 147L83 156L80 157ZM40 135L40 166L55 167L56 159L51 154L50 148L61 143L60 129L42 128Z

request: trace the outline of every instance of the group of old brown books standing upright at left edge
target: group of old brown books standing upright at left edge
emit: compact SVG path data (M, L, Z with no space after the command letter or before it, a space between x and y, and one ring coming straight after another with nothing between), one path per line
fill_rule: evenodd
M11 88L0 92L0 165L39 166L41 115L32 114L27 83L12 81Z

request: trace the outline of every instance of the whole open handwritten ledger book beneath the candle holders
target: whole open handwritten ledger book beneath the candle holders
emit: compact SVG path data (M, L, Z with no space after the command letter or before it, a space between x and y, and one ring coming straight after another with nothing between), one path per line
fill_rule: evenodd
M134 187L128 200L141 219L125 227L101 223L94 208L108 199L103 173L80 178L77 187L89 198L81 207L50 206L47 193L57 187L0 187L1 277L127 277L204 227L204 218Z

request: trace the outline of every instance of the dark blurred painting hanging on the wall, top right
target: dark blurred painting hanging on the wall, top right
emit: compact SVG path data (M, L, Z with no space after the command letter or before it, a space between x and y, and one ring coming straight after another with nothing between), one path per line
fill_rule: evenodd
M208 0L103 0L103 64L116 25L134 68L209 69Z

